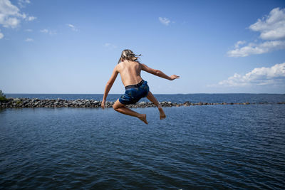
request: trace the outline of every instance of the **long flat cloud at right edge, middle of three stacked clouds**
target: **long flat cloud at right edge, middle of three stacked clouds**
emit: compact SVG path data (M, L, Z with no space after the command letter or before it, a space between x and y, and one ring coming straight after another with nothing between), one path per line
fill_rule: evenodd
M229 57L246 57L253 54L268 53L274 50L284 49L285 41L265 41L264 43L249 43L247 46L228 51Z

